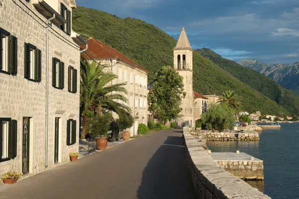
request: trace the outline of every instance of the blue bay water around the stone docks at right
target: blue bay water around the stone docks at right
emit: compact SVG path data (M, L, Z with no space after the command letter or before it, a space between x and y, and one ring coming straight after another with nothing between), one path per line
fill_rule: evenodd
M264 161L264 181L246 181L272 199L299 199L299 123L264 130L259 141L207 141L212 152L247 153Z

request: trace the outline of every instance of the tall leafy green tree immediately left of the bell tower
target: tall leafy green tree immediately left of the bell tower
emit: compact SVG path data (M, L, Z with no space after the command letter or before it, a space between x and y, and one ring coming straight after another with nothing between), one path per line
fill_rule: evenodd
M160 122L176 119L180 112L181 98L185 96L183 78L170 66L164 66L154 74L154 85L149 102L159 107L156 117Z

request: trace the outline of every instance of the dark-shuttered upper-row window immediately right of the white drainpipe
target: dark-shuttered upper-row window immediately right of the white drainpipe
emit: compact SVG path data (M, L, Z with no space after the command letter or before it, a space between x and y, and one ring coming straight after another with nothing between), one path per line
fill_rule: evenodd
M53 57L52 86L56 89L64 88L64 63Z

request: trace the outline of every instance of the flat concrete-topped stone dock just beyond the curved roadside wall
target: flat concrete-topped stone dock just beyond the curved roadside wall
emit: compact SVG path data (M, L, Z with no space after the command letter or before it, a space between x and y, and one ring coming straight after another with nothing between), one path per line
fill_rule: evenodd
M246 153L212 152L211 156L224 170L243 180L264 180L263 160Z

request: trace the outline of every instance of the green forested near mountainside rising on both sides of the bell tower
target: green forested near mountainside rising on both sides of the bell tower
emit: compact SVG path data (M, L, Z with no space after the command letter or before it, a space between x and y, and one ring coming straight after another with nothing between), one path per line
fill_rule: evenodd
M176 40L140 19L120 18L104 11L77 6L73 12L72 28L85 38L95 37L112 46L151 72L162 66L173 66ZM152 75L149 74L149 82L151 80ZM296 109L278 105L196 51L193 52L193 90L203 95L220 95L226 90L234 90L243 98L243 108L249 112L260 110L275 115L281 112L299 113Z

